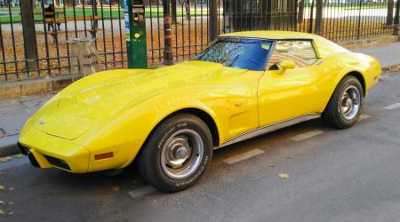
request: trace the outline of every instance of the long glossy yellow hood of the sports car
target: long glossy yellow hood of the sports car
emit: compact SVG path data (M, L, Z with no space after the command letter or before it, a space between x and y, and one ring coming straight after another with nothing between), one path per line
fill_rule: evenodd
M108 70L89 75L52 99L48 106L50 111L42 112L35 123L36 129L52 136L76 139L125 107L137 106L165 91L181 87L225 82L229 76L246 71L211 62L190 61L171 67Z

